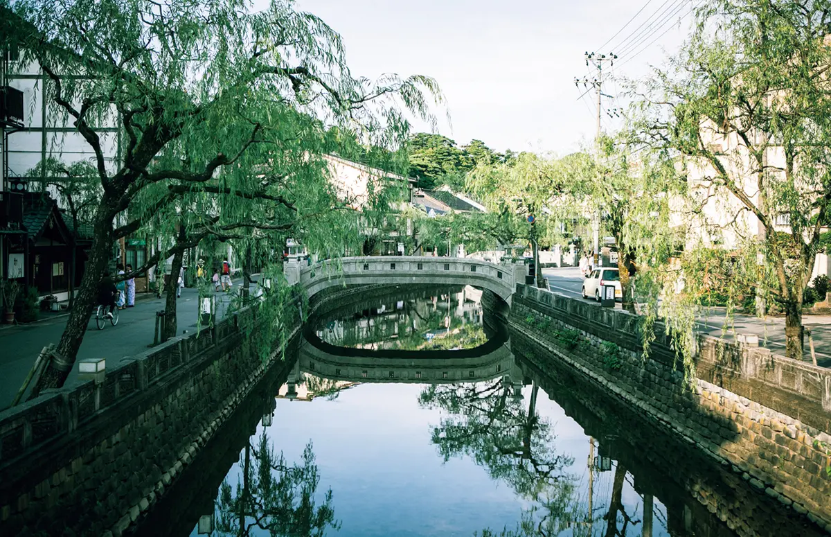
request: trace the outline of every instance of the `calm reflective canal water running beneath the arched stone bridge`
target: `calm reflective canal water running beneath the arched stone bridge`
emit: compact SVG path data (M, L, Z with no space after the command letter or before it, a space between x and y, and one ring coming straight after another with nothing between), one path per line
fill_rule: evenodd
M470 287L318 308L140 535L824 535Z

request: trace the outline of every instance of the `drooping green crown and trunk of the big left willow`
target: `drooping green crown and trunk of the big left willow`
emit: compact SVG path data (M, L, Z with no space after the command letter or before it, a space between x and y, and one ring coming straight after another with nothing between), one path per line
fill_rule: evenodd
M32 170L60 175L57 185L80 178L86 190L62 195L95 199L77 211L101 226L81 298L94 295L111 244L139 231L163 248L138 272L208 238L264 264L287 236L322 258L358 251L361 219L388 211L401 188L379 177L368 199L339 191L327 154L403 170L409 120L435 124L431 101L443 102L427 76L352 76L341 37L293 2L22 0L0 17L22 64L42 66L45 106L93 155L92 166ZM123 144L110 160L95 129L116 111ZM90 307L70 314L58 348L69 359Z

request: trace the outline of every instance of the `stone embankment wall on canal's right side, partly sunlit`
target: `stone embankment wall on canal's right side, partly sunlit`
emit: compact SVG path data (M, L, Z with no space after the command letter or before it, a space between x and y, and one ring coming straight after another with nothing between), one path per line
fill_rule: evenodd
M831 532L829 370L701 337L689 386L660 326L644 360L637 316L527 286L514 296L510 323Z

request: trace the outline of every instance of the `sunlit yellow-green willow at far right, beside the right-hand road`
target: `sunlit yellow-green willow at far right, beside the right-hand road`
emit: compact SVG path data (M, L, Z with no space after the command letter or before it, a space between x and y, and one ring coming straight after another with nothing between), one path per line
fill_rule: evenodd
M786 352L798 360L804 289L831 204L829 26L828 2L706 2L642 102L643 139L690 175L696 238L681 258L684 292L666 297L721 293L730 310L755 288L760 305L784 313ZM721 254L694 251L714 248ZM726 286L706 288L714 257Z

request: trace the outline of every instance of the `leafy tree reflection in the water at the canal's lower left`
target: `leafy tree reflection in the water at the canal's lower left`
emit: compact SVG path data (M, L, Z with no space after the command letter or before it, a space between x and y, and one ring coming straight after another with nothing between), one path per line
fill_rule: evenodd
M283 452L275 456L265 432L255 449L245 446L242 480L232 490L228 480L219 488L217 531L219 535L251 535L261 529L270 535L322 537L327 527L340 529L332 510L332 489L322 505L315 494L320 483L312 443L303 450L302 462L288 465Z

